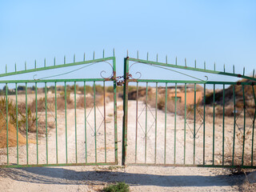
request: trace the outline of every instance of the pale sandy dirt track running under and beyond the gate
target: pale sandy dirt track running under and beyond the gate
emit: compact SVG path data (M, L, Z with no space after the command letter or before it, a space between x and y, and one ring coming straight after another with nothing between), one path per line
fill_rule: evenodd
M95 148L97 150L98 162L114 162L114 110L113 102L106 106L106 139L104 138L104 126L101 125L102 116L104 114L103 107L96 108L96 147L94 135L94 108L86 109L87 131L85 133L84 110L77 110L77 137L75 137L74 126L74 110L67 111L67 143L66 146L66 130L65 130L65 114L58 112L58 163L66 162L66 149L68 154L68 162L95 162ZM230 170L213 169L213 168L197 168L197 167L162 167L162 166L126 166L121 164L121 139L122 139L122 102L118 102L118 164L119 166L69 166L69 167L34 167L22 169L0 169L0 187L1 191L98 191L104 186L112 182L126 182L130 185L131 191L239 191L244 179L243 175L230 175ZM134 101L129 102L129 125L128 125L128 154L127 162L135 161L135 133L136 123L134 121L136 114L136 106ZM155 114L155 110L150 108L148 113ZM145 137L145 109L143 103L139 102L138 112L142 113L139 121L141 123L138 128L138 147L137 162L154 162L155 147L155 130L154 118L148 118L147 137ZM157 156L156 162L163 163L164 158L164 113L158 112L158 136L157 136ZM42 115L43 116L43 115ZM144 119L144 120L142 120ZM54 118L48 118L53 122ZM177 150L174 153L174 115L168 114L166 125L166 163L174 162L174 154L177 163L184 161L184 120L182 117L176 119L176 145ZM193 122L189 122L191 124ZM89 125L90 124L90 125ZM101 125L101 126L100 126ZM151 125L153 125L151 127ZM200 124L197 123L199 127ZM192 126L193 127L193 126ZM206 126L208 127L208 126ZM219 128L221 129L221 127ZM206 163L212 162L212 128L206 134ZM186 130L186 162L193 162L193 142L190 137L190 130ZM85 136L86 134L86 136ZM230 132L230 134L232 134ZM195 162L202 162L202 130L198 130L201 135L196 140L196 158ZM222 140L221 132L216 130L216 138ZM33 139L34 136L30 136ZM76 139L77 138L77 139ZM85 138L87 146L85 145ZM75 145L77 140L77 145ZM218 141L218 140L217 140ZM145 142L147 149L145 150ZM106 144L105 144L106 143ZM215 153L222 151L221 142L217 142ZM106 145L106 158L105 158ZM226 141L225 145L229 145ZM77 156L75 148L77 146ZM47 137L48 147L48 163L57 161L56 153L56 130L49 130ZM191 148L192 147L192 148ZM86 151L87 149L87 151ZM37 162L36 145L29 145L29 163ZM17 163L17 149L10 148L10 163ZM6 162L5 150L0 151L1 162ZM87 153L85 153L87 152ZM87 154L87 155L86 155ZM77 158L76 158L77 157ZM46 163L46 137L39 139L38 145L38 162ZM221 159L216 155L216 163L222 163ZM26 146L19 147L19 163L26 164Z

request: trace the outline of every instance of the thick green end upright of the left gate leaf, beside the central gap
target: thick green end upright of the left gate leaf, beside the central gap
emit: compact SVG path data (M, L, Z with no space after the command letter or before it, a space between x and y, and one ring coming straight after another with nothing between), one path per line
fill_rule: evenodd
M113 53L114 54L114 53ZM118 165L118 125L117 125L117 82L115 58L113 58L113 86L114 86L114 162Z

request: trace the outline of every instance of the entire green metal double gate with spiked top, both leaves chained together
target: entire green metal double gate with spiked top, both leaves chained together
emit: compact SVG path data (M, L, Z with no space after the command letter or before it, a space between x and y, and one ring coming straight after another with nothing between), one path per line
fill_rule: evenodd
M103 77L102 64L110 66L109 77ZM142 79L139 72L136 78L130 73L135 64L193 80ZM147 56L124 58L124 75L116 77L115 57L105 58L104 51L98 59L75 62L74 56L62 65L55 59L51 66L46 60L37 65L15 66L14 72L6 67L0 74L14 77L0 81L0 167L118 164L118 85L123 86L122 165L256 168L254 74L227 73L225 66L218 71L215 65L206 70L206 64L200 69L196 62L186 66L186 60L185 66L177 59L153 62ZM101 78L94 78L90 66L102 69ZM93 77L57 78L83 68ZM35 74L51 70L48 77ZM242 80L209 81L193 77L193 71Z

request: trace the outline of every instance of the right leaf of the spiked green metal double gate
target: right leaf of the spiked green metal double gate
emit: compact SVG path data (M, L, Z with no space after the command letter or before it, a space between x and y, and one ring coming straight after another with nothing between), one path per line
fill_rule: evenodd
M143 66L134 78L130 70ZM142 79L149 68L193 80ZM122 165L256 168L254 74L124 59ZM183 71L181 71L183 70ZM191 72L190 72L191 71ZM193 71L235 77L233 82L193 77ZM190 73L189 73L190 72ZM135 76L135 75L134 75ZM160 74L161 76L161 74ZM229 79L230 79L229 78ZM238 78L242 78L239 80ZM239 80L239 81L238 81ZM237 82L238 81L238 82Z

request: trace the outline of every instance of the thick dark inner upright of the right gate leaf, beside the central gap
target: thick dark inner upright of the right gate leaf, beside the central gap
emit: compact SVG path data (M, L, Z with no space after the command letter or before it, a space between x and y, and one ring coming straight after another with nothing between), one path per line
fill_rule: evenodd
M128 119L128 78L129 57L124 58L123 116L122 116L122 166L126 166L127 154L127 119Z

